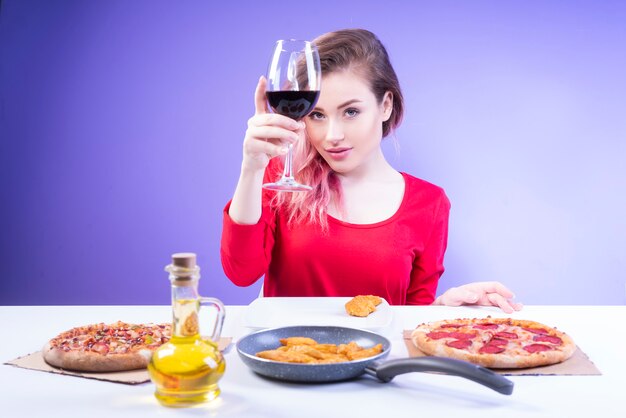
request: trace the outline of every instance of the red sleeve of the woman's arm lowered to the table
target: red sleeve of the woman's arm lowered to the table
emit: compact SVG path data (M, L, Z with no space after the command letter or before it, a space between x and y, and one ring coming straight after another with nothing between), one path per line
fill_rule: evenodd
M444 270L443 256L448 245L450 201L443 191L433 215L432 229L424 250L413 263L407 305L430 305L435 300L437 284Z

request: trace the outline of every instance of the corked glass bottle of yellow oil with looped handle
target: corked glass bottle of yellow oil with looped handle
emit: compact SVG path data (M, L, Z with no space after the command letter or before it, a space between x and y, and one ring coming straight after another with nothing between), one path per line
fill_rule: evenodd
M148 372L156 385L154 394L162 405L193 406L220 394L217 382L226 363L217 342L225 309L218 299L198 295L200 268L195 254L172 255L172 264L165 270L172 283L172 337L152 355ZM198 311L202 306L217 312L213 333L208 338L201 336L199 330Z

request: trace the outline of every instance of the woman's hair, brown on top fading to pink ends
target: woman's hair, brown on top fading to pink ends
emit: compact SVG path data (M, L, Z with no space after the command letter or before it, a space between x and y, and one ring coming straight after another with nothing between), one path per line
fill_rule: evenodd
M386 92L393 95L392 113L383 122L383 137L388 136L402 121L404 99L400 83L387 50L372 32L364 29L344 29L326 33L313 43L320 54L322 86L324 75L342 70L358 72L370 84L379 103ZM334 201L343 209L343 197L339 179L328 163L309 141L300 141L294 147L294 177L313 187L304 193L276 193L271 201L273 207L286 207L288 223L312 222L328 229L326 217L328 205ZM277 169L282 172L282 164Z

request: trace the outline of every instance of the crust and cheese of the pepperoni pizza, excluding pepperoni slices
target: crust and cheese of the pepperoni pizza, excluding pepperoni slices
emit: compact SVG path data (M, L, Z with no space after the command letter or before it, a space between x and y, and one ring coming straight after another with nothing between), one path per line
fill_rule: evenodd
M488 354L477 352L478 346L485 344L490 339L494 332L485 330L477 330L477 337L472 338L473 350L457 349L447 346L445 343L450 339L432 339L428 336L433 330L441 330L442 325L449 324L462 324L462 325L477 325L484 323L493 323L498 325L504 325L505 327L519 328L519 340L510 340L506 349L502 353ZM533 344L532 334L527 331L523 331L523 328L541 328L548 331L547 335L558 337L562 343L558 346L554 346L549 351L540 351L535 353L529 353L523 349L522 346L527 344ZM535 321L516 320L511 318L483 318L483 319L457 319L457 320L444 320L432 323L426 323L419 325L412 333L411 339L413 344L420 349L424 354L430 356L450 357L459 360L469 361L480 366L489 368L528 368L545 366L549 364L560 363L567 360L576 351L576 345L574 341L564 332L558 331L555 328L551 328L540 324Z

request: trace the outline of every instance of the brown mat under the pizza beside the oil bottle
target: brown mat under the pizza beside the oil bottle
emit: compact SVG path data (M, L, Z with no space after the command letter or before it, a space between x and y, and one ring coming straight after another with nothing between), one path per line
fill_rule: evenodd
M231 337L222 337L218 341L217 346L220 351L225 351L229 347L231 341ZM18 357L15 360L8 361L4 364L21 367L23 369L64 374L68 376L84 377L86 379L104 380L107 382L124 383L127 385L138 385L140 383L146 383L150 381L150 376L148 375L148 371L146 369L111 373L83 373L58 369L56 367L50 366L44 361L41 351L37 351L23 357Z

